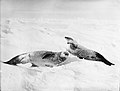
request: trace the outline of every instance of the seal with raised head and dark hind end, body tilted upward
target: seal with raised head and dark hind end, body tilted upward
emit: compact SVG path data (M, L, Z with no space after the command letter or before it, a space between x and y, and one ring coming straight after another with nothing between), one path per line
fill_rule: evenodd
M106 60L100 53L90 50L90 49L87 49L87 48L79 45L72 38L65 37L65 39L67 40L67 44L70 44L70 48L68 49L68 52L70 52L74 56L77 56L80 59L100 61L109 66L114 65L113 63Z

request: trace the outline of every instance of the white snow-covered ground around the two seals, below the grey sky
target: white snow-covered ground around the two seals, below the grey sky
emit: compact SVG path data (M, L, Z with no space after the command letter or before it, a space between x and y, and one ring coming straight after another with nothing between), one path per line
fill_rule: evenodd
M1 91L119 91L120 21L20 19L1 22L1 61L30 51L64 51L65 36L105 56L115 66L69 56L59 67L29 68L1 63Z

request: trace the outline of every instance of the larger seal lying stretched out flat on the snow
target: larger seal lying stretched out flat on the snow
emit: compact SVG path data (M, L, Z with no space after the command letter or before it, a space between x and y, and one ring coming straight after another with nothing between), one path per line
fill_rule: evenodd
M68 52L34 51L17 55L11 60L3 63L10 65L31 63L32 67L53 67L58 66L60 63L64 62L68 56Z

